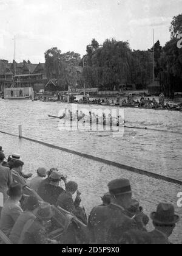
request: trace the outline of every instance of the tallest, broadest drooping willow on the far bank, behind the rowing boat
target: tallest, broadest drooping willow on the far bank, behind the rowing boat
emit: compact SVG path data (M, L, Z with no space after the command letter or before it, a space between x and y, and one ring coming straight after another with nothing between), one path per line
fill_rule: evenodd
M92 44L87 46L84 60L84 77L88 87L99 85L104 90L113 90L114 87L131 80L131 50L127 42L106 40L99 47L92 40Z

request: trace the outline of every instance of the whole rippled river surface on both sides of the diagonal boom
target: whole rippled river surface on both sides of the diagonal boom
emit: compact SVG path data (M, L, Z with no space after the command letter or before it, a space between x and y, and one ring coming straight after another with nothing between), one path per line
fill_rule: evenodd
M182 113L125 108L124 119L127 126L147 127L152 130L124 128L123 136L115 137L112 133L105 131L60 129L62 123L59 119L49 118L48 115L58 116L61 113L60 110L62 111L65 107L68 105L57 102L1 100L0 130L18 134L18 125L22 124L24 137L182 180ZM82 105L81 107L89 111L94 108L107 111L104 106ZM109 107L109 110L113 109L113 112L116 109L111 108ZM47 168L59 166L70 179L79 183L87 212L100 203L99 196L107 191L107 182L118 177L127 177L132 182L135 197L144 205L148 214L155 211L158 202L167 201L174 204L177 213L181 215L181 208L177 207L177 193L182 191L180 186L28 141L19 141L8 135L0 134L0 141L7 154L19 152L22 155L26 172L35 173L38 166ZM175 243L182 241L181 227L180 222L172 236L172 241ZM152 229L151 224L150 229Z

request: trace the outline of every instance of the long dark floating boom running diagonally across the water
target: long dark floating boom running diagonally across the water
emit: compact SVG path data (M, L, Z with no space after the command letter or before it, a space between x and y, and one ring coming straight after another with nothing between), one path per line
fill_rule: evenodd
M7 132L1 132L0 131L0 133L4 133L6 135L11 135L13 137L19 137L18 135L12 135L11 133L7 133ZM177 184L177 185L182 185L182 180L172 179L170 177L162 176L160 174L155 174L153 172L144 171L142 169L134 168L132 166L127 166L127 165L123 165L121 163L116 163L116 162L112 162L110 160L95 157L93 155L88 155L88 154L84 154L84 153L81 153L81 152L78 152L78 151L73 151L71 149L62 148L60 146L55 146L55 145L52 145L52 144L49 144L49 143L45 143L43 141L33 140L32 138L27 138L27 137L23 137L23 136L19 137L19 138L21 138L23 140L31 141L33 143L38 143L38 144L41 144L43 146L47 146L47 147L52 148L52 149L58 149L59 151L64 151L64 152L67 152L67 153L70 153L70 154L78 155L79 157L87 158L87 159L90 159L90 160L93 160L93 161L96 161L96 162L99 162L99 163L104 163L106 165L115 166L116 168L125 169L126 171L135 172L135 173L141 174L143 176L152 177L153 179L163 180L165 182L174 183L174 184Z

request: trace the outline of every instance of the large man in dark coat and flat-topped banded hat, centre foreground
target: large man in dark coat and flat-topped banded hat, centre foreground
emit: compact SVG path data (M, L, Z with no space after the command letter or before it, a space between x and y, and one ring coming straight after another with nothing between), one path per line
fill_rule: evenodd
M132 204L132 189L127 179L112 180L108 184L112 197L109 205L93 208L89 216L92 243L117 244L124 232L144 229L140 218L137 222L126 209Z

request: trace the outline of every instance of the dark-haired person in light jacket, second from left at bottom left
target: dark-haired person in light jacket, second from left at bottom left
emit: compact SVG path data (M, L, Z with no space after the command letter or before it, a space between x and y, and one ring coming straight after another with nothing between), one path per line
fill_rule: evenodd
M19 238L21 236L21 232L24 229L25 224L30 219L36 218L36 211L39 207L39 201L35 196L30 196L27 200L27 209L24 213L21 213L19 218L17 219L15 225L13 226L12 232L10 233L10 241L13 244L18 244Z

